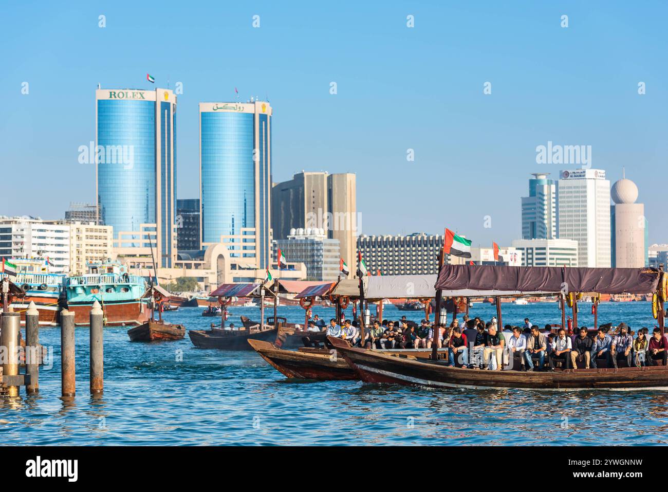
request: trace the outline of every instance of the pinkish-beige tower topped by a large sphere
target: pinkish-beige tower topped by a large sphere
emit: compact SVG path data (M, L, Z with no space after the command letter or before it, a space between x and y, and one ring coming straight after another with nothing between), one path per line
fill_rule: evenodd
M641 268L645 266L645 205L635 203L638 187L635 182L622 178L613 184L611 197L615 205L611 213L613 266L617 268Z

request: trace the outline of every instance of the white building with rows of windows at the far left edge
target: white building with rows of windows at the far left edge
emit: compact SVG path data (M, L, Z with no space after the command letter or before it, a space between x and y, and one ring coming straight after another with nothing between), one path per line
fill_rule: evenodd
M44 258L54 273L69 271L69 225L35 217L0 217L0 257Z

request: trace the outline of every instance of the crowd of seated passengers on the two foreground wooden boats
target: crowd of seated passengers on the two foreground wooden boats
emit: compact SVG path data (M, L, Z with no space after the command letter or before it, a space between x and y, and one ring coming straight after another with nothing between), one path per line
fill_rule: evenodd
M526 371L554 371L557 362L564 369L576 369L578 362L587 369L597 368L597 360L605 360L612 368L618 367L619 360L628 367L653 366L658 360L665 366L668 358L668 338L661 335L659 328L654 329L651 338L649 330L641 328L634 339L625 323L615 330L610 324L601 326L594 336L584 326L572 336L564 328L558 328L555 334L551 325L541 330L528 318L522 327L506 325L504 330L500 330L496 318L484 322L468 316L464 316L463 326L457 318L449 326L438 327L428 320L418 325L405 316L397 322L375 320L363 334L356 321L345 320L342 325L332 318L327 335L343 338L353 346L380 350L428 349L436 344L448 349L448 366L472 369L502 370L504 364L506 368L511 364L512 368L514 356L518 356L520 370Z

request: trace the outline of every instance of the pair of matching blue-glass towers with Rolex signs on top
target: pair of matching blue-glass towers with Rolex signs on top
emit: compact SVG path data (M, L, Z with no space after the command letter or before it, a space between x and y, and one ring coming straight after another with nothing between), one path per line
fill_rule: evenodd
M271 262L271 115L267 102L202 102L202 247L226 243L255 269ZM176 94L169 89L96 90L100 220L114 246L176 261Z

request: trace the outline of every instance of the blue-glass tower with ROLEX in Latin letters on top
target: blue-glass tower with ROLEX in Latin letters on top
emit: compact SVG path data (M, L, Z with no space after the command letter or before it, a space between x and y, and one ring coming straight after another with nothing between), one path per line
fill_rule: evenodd
M96 150L100 220L148 248L159 267L176 259L176 96L168 89L96 90Z

